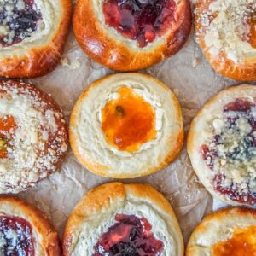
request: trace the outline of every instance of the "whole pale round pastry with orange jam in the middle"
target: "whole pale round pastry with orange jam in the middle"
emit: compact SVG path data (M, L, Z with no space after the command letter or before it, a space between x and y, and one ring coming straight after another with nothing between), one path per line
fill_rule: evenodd
M175 159L183 146L179 103L160 80L140 73L99 79L71 113L73 153L91 172L140 177Z

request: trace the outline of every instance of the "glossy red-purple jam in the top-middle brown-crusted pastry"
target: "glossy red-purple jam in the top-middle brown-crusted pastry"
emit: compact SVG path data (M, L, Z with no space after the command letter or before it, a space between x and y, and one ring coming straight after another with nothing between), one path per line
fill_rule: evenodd
M102 5L107 26L141 48L172 26L176 8L174 0L106 0Z

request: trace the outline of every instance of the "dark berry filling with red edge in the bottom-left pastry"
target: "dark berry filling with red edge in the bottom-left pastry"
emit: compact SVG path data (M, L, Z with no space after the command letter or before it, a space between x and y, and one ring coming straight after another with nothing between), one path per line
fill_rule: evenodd
M25 219L0 216L0 255L35 255L32 226Z

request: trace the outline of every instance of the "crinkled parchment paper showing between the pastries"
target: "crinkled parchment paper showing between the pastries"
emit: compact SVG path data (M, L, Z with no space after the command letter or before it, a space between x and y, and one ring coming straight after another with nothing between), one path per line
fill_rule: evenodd
M194 32L177 55L141 72L162 80L177 95L183 109L186 135L195 113L207 99L228 85L239 84L224 79L212 71L212 67L195 44ZM113 71L91 61L79 49L73 32L70 32L59 67L43 78L29 81L55 98L68 122L73 104L84 88L108 73ZM97 177L84 169L69 148L67 158L59 172L55 172L36 187L18 196L45 212L61 236L69 213L86 191L111 180ZM177 160L164 170L148 177L123 180L123 182L149 183L166 195L177 214L185 241L201 218L212 210L212 197L198 182L191 168L185 145Z

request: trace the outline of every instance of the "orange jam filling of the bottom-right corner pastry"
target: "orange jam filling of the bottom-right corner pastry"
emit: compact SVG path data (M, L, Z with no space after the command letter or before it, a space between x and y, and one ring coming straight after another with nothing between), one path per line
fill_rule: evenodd
M236 229L228 241L213 245L213 256L256 256L256 226Z

